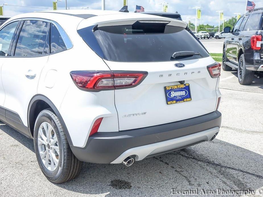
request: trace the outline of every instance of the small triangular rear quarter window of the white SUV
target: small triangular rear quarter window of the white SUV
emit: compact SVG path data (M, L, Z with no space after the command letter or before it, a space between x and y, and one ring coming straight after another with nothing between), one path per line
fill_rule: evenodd
M51 53L58 53L67 50L67 47L54 24L51 24L50 48Z

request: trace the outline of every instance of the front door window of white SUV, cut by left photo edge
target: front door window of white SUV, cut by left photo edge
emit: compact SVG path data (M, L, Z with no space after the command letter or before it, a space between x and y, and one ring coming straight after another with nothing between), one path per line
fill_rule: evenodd
M8 24L0 31L0 56L6 56L18 21Z

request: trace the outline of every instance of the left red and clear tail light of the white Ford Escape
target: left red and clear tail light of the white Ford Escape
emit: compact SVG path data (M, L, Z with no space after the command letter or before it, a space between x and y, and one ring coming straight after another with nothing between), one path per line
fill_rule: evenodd
M139 85L148 72L145 71L72 71L76 86L86 91L131 88Z

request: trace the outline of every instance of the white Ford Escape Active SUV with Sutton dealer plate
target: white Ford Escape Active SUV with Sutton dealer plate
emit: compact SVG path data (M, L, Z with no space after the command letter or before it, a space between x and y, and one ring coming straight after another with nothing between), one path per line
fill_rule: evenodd
M0 29L0 120L49 181L213 140L220 64L185 22L113 11L15 16Z

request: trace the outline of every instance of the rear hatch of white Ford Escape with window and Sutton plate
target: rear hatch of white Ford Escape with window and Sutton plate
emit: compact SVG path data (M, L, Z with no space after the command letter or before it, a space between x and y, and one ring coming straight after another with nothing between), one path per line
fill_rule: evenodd
M215 111L216 85L207 66L215 61L179 20L122 21L96 26L94 35L111 71L145 71L136 87L115 89L119 130L185 120ZM172 20L172 19L171 19ZM179 51L198 55L173 58ZM98 54L99 55L99 54ZM176 97L176 99L175 99Z

